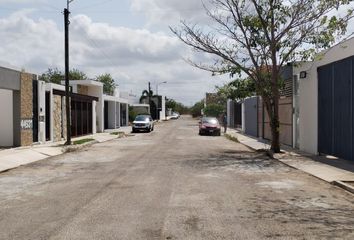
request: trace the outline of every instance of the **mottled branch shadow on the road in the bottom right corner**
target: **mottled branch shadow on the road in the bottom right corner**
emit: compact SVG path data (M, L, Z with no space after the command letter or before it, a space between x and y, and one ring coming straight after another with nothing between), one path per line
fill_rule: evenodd
M315 231L316 239L337 239L339 236L344 238L338 239L352 239L348 238L348 234L354 231L352 205L350 204L331 204L326 196L294 197L282 200L274 199L272 195L260 195L248 199L247 202L252 209L242 213L244 219L305 225L309 231ZM332 235L334 232L336 237ZM301 235L299 233L298 237ZM280 236L289 235L285 232Z

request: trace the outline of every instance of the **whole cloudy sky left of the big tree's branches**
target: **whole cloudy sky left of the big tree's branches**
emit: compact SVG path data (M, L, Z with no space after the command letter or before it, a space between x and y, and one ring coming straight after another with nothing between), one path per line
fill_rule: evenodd
M66 0L0 0L0 66L42 74L64 69ZM191 106L228 76L213 77L185 59L210 59L169 30L204 24L201 0L74 0L70 3L70 68L90 78L110 73L121 91L154 92ZM166 83L162 83L166 82Z

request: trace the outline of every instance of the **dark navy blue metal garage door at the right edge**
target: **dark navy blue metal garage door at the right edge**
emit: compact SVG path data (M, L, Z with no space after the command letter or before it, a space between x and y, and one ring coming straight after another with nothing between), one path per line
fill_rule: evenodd
M353 57L318 68L318 151L353 160Z

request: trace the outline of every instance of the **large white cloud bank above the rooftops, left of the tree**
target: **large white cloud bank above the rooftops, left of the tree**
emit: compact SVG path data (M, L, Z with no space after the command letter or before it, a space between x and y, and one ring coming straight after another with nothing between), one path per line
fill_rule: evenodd
M64 34L52 20L14 13L0 18L0 38L0 62L5 65L37 74L49 67L63 69ZM85 15L71 18L70 66L90 77L111 73L121 89L137 95L149 81L154 89L157 82L167 81L159 93L190 105L220 84L182 56L193 55L171 35L97 23Z

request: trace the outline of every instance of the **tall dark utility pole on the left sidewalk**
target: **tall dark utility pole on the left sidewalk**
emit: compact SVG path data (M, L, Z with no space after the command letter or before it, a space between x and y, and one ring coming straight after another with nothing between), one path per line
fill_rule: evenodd
M70 104L70 85L69 85L69 4L73 0L67 0L67 6L64 8L64 26L65 26L65 111L66 111L66 143L71 145L71 104Z

